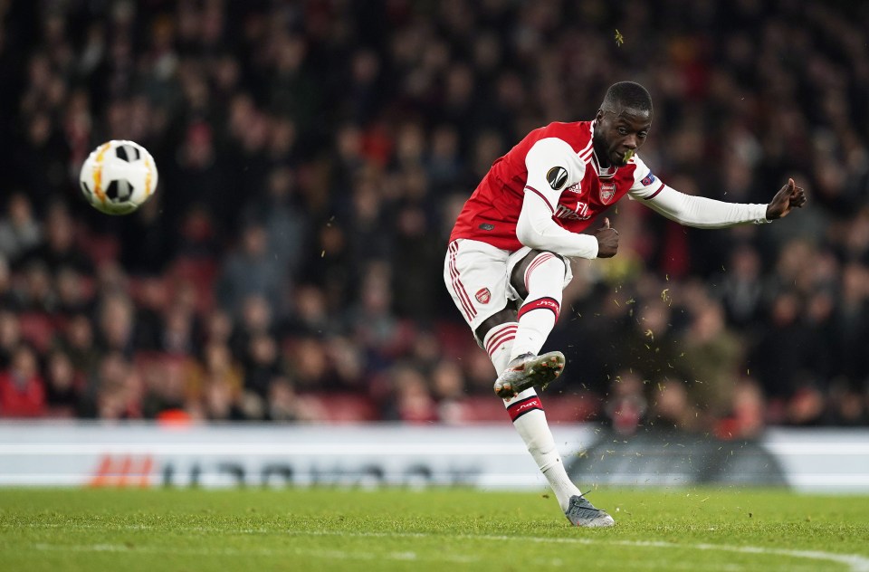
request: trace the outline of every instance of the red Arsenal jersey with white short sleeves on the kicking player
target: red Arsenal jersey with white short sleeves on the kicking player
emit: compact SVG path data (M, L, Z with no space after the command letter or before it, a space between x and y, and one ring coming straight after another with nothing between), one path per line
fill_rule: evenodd
M580 233L626 193L648 199L664 187L636 156L622 167L600 167L593 132L593 121L550 123L531 131L492 164L464 204L450 241L468 238L520 249L516 224L526 192L546 202L556 224Z

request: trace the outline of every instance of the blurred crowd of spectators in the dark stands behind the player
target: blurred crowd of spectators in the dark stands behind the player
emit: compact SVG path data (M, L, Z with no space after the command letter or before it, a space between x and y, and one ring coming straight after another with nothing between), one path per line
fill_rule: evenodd
M810 203L718 231L616 205L550 418L867 425L866 30L822 0L0 0L0 417L506 422L449 231L495 158L630 79L669 185ZM134 215L78 191L111 138L157 160Z

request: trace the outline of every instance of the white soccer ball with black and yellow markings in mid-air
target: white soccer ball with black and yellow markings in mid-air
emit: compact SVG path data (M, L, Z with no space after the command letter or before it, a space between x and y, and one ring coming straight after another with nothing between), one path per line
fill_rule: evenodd
M111 140L95 148L79 175L81 193L106 215L129 215L154 194L157 165L148 149Z

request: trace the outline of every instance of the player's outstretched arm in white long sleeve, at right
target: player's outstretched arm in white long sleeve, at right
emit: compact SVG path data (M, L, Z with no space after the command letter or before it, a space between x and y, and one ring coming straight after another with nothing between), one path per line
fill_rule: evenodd
M726 228L737 224L763 224L788 215L792 208L806 204L805 191L788 179L769 205L725 203L704 196L685 195L670 186L642 202L655 212L679 224L696 228Z

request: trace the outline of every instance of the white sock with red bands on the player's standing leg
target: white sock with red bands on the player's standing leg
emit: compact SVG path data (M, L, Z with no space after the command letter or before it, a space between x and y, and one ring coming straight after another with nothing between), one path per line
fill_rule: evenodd
M560 283L560 282L559 282ZM543 313L543 312L540 312ZM551 312L547 312L551 313ZM508 322L497 328L492 328L483 339L483 347L489 352L495 370L500 374L507 368L510 362L511 346L515 337L518 324ZM535 350L535 353L540 348ZM549 487L555 493L561 510L568 509L570 497L580 494L579 489L568 477L564 469L561 455L555 446L555 439L549 431L546 423L546 414L543 413L543 405L534 388L526 389L512 399L504 400L507 413L511 416L513 426L520 434L528 452L531 453L534 462L540 468L540 472L549 481Z

